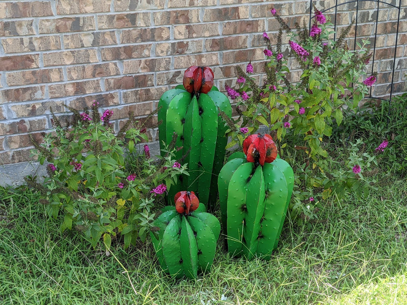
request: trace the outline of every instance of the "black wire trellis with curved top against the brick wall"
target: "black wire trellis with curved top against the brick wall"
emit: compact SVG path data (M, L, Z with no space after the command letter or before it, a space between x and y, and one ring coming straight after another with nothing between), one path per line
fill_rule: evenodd
M310 0L310 8L309 8L309 27L311 27L311 22L312 22L312 18L314 18L313 16L313 2L312 0ZM398 32L399 32L399 24L400 24L400 11L401 11L401 0L398 0L398 5L392 4L392 3L387 3L384 1L380 1L380 0L351 0L351 1L346 1L343 3L338 3L338 0L335 0L335 5L330 7L330 8L326 8L321 10L322 13L324 12L328 12L331 10L334 10L333 14L334 14L334 20L332 20L331 22L334 24L334 30L335 30L335 34L334 34L334 39L336 39L336 27L337 27L337 21L338 21L338 8L344 5L348 5L348 4L356 4L356 8L352 9L352 12L356 11L356 17L355 17L355 34L354 34L354 46L353 49L356 49L356 43L357 43L357 38L358 36L358 17L359 17L359 13L360 13L360 4L361 3L375 3L375 16L376 16L376 20L375 21L369 21L368 23L374 23L374 42L373 42L373 52L372 52L372 57L371 57L371 73L373 73L373 68L374 68L374 64L375 64L375 60L379 60L376 59L376 42L377 42L377 36L378 35L387 35L387 33L383 33L383 34L377 34L377 25L379 24L379 11L381 9L389 9L389 8L393 8L393 9L397 9L397 25L396 25L396 37L395 37L395 45L394 45L394 53L393 53L393 65L392 65L392 70L391 70L391 82L386 82L385 84L390 84L390 94L389 94L389 98L388 99L384 99L384 98L380 98L380 97L373 97L372 94L372 88L370 88L370 92L369 92L369 97L368 98L375 98L375 99L380 99L380 100L388 100L389 101L389 109L390 109L390 103L391 103L391 99L392 99L392 95L393 95L393 87L394 87L394 71L396 68L396 54L397 54L397 41L398 41ZM392 1L394 3L397 3L396 1ZM369 10L371 11L371 9ZM345 12L345 11L344 11ZM348 12L348 11L346 11ZM373 14L371 14L370 16L372 16ZM363 35L365 36L365 35ZM393 46L391 47L387 47L387 48L393 48ZM376 83L376 85L380 85L380 83Z

